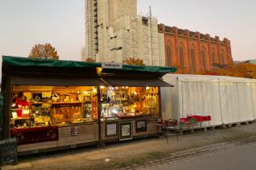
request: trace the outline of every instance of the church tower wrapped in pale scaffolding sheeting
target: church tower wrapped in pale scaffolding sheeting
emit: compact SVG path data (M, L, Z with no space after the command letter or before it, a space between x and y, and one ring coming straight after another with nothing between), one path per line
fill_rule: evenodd
M86 0L82 61L122 63L135 58L160 65L158 45L158 20L151 14L139 16L137 0Z

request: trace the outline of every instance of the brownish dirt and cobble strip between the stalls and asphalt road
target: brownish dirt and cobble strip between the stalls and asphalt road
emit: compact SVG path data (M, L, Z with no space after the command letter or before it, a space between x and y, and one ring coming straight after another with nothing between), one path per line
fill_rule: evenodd
M256 124L252 124L235 128L197 132L179 136L179 141L174 136L170 137L169 143L162 137L160 139L153 138L108 144L106 148L82 148L81 150L75 149L64 153L34 156L30 159L19 159L19 166L26 163L26 167L16 169L146 169L160 164L168 164L172 161L182 161L193 156L218 152L224 148L232 148L238 143L230 143L231 140L256 135L255 126ZM223 143L225 141L227 142ZM143 164L145 162L140 162L140 166L134 166L133 162L129 162L131 158L138 158L139 160L143 158L142 156L146 156L152 152L163 152L166 154L166 157L162 159L150 157L151 160L145 161L146 164ZM126 163L130 167L122 168L124 166L121 163ZM12 168L15 169L14 167Z

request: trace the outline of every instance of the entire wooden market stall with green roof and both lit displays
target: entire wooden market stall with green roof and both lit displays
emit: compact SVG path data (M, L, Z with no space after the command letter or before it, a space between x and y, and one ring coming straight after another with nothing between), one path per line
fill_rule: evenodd
M26 154L155 135L161 77L175 70L4 56L3 136Z

